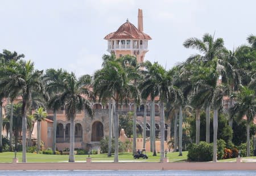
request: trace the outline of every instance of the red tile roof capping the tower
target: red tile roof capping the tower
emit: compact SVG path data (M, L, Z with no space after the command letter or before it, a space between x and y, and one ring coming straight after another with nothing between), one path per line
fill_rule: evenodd
M145 39L151 40L152 38L144 32L139 31L128 20L123 23L115 32L109 33L104 37L105 40L110 39Z

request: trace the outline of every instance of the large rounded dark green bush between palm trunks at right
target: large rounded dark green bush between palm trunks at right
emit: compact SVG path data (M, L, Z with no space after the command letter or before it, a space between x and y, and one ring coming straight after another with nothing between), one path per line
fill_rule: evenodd
M191 144L188 148L189 161L212 161L213 144L201 141L199 145Z

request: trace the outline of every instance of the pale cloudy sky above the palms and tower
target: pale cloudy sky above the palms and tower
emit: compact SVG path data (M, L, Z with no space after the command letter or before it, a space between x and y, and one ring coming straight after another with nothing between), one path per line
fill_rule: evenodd
M26 55L39 70L64 68L93 75L109 54L104 37L129 19L151 36L145 59L167 69L196 50L183 42L205 33L221 37L233 50L256 35L254 0L0 0L0 52Z

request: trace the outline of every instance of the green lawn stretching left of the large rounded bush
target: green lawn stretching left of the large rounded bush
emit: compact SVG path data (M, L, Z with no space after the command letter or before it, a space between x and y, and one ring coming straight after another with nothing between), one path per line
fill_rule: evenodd
M158 156L152 156L152 153L147 152L147 160L142 158L134 159L131 153L119 153L119 161L145 161L145 162L159 162L160 153ZM184 162L187 159L188 152L183 152L183 156L178 156L179 152L167 153L169 162ZM22 152L17 153L19 161L22 161ZM75 155L75 161L86 161L88 155ZM114 161L114 154L108 157L107 154L90 154L92 161ZM12 162L14 152L0 153L0 162ZM51 154L36 154L27 153L27 162L67 162L68 155L51 155Z

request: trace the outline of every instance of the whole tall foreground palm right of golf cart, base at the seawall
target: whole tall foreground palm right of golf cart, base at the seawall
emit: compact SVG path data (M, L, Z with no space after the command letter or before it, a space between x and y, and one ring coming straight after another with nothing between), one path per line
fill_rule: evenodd
M146 61L145 66L148 70L146 80L140 85L142 89L142 96L144 98L151 96L154 100L159 96L160 101L160 162L164 157L164 102L176 97L177 89L172 85L171 72L167 72L157 62L151 64Z

